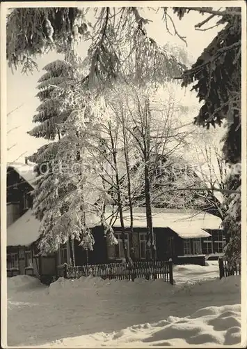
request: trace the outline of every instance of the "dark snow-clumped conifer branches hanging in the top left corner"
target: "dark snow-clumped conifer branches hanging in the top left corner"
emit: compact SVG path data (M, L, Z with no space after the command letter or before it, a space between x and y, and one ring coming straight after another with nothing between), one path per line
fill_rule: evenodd
M37 56L65 52L74 39L88 36L86 10L78 8L14 8L7 16L7 59L11 67L35 68ZM81 38L79 37L81 36Z

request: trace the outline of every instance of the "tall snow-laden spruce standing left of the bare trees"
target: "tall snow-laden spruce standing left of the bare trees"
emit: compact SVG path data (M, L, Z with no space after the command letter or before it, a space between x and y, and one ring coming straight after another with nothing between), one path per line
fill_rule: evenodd
M91 213L97 198L93 195L89 198L89 193L95 188L88 183L83 185L87 161L83 153L85 127L77 107L70 100L64 102L64 87L73 84L77 78L75 75L81 72L78 68L81 61L76 58L71 51L64 61L45 66L47 73L42 75L38 85L37 96L41 103L38 114L33 117L33 121L39 124L29 131L34 137L54 141L30 157L37 163L33 208L35 216L42 221L40 250L43 252L56 251L67 239L78 239L88 249L92 249L94 243L86 226L86 207L92 205L89 208ZM88 110L84 112L86 120Z

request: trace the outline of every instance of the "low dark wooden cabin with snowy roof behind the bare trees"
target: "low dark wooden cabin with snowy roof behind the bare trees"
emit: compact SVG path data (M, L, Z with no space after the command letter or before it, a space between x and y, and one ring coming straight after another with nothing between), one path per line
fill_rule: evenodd
M109 216L111 212L109 211ZM107 213L106 213L107 217ZM110 219L106 221L109 221ZM129 250L130 216L124 211L125 242ZM184 209L152 209L154 239L157 246L157 259L173 258L175 264L205 265L205 255L221 253L225 241L221 230L221 218L202 211ZM125 260L122 248L120 218L115 220L113 230L118 244L107 244L103 239L102 227L92 229L95 238L93 251L88 251L89 264L100 264ZM145 207L134 209L134 246L136 260L146 258L146 214ZM82 265L86 262L86 253L79 251L74 242L75 262Z

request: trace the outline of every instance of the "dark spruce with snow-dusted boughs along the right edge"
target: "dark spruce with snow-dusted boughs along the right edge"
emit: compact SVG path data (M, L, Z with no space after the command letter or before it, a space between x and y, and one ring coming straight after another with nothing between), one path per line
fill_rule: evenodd
M199 126L225 125L223 154L232 170L225 179L225 188L241 191L241 8L174 8L182 19L196 10L208 17L197 24L202 28L214 17L216 25L225 27L198 57L191 69L182 74L182 86L193 84L202 106L195 123ZM237 170L236 170L237 168ZM227 235L226 258L230 263L241 256L241 194L225 198L223 228Z

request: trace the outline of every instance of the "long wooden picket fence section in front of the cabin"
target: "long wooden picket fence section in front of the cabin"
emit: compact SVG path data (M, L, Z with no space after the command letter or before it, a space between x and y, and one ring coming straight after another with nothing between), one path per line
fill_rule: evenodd
M102 279L132 280L136 278L164 279L173 284L172 260L152 260L143 262L108 263L99 265L63 265L58 267L58 276L65 279L79 279L81 276L99 276Z

